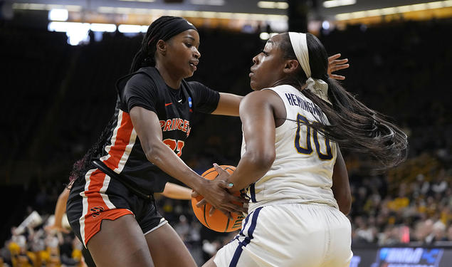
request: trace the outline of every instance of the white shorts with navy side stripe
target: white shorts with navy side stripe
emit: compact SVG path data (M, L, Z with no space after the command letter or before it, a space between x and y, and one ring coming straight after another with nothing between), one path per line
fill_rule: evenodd
M349 267L349 219L325 204L275 204L248 214L214 258L218 267Z

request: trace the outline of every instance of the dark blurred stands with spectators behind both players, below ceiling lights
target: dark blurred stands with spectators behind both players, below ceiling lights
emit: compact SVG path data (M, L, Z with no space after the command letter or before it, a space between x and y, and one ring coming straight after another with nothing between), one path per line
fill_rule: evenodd
M451 21L405 21L319 35L330 55L350 68L343 85L369 107L389 115L409 135L409 158L388 172L344 152L352 189L352 246L452 244L452 115L446 97ZM199 28L201 63L190 80L246 95L251 58L263 47L258 33ZM64 33L0 27L4 115L0 155L4 218L0 263L9 266L81 266L83 245L74 235L44 230L71 165L83 157L115 106L115 80L127 74L142 36L105 33L101 41L69 46ZM182 159L201 174L214 162L236 165L241 123L199 114ZM3 178L2 178L3 179ZM177 181L171 181L177 182ZM7 194L14 197L5 197ZM161 214L199 265L236 233L202 226L189 201L157 196ZM36 212L42 224L17 230ZM28 265L27 265L28 264ZM0 265L1 266L1 265Z

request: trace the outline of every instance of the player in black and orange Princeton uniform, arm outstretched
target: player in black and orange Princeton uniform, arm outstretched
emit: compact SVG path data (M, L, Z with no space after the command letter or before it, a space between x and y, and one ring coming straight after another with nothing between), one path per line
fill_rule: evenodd
M75 166L70 226L97 266L196 266L157 212L153 194L174 177L224 213L243 211L221 180L203 179L179 158L195 111L238 116L241 96L186 82L199 62L199 34L185 19L162 16L148 28L117 105L97 144ZM336 69L344 61L333 61Z

